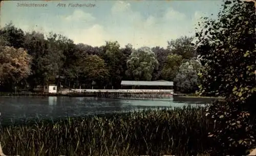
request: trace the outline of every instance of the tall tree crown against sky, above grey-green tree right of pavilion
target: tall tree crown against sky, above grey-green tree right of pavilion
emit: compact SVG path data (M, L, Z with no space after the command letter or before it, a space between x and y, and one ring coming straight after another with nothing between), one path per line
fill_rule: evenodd
M183 59L197 57L196 48L191 44L193 39L193 37L182 36L176 40L168 41L167 49L172 51L172 54L182 56Z

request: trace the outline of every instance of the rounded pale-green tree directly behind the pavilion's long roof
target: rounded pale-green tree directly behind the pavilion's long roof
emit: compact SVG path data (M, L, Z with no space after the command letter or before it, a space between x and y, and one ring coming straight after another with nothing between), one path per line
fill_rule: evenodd
M156 55L149 47L134 50L127 61L127 76L132 80L151 81L154 69L158 68Z

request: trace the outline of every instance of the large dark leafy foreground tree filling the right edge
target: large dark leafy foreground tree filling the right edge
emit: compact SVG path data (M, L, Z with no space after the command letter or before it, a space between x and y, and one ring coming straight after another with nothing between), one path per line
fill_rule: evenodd
M216 126L209 137L222 154L244 155L255 144L255 8L225 1L217 20L204 20L196 33L200 94L225 97L207 109Z

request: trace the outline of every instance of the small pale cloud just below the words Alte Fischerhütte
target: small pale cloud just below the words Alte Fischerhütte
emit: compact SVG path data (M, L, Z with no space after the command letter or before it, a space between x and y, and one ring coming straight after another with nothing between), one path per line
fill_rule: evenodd
M62 16L63 19L71 21L94 21L95 17L90 13L85 13L82 10L75 10L72 15Z

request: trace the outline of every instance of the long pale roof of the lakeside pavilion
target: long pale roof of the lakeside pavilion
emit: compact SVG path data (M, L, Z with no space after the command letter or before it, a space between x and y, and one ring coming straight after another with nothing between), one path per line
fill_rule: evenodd
M122 81L123 86L173 86L169 81Z

